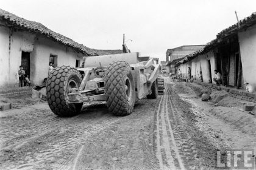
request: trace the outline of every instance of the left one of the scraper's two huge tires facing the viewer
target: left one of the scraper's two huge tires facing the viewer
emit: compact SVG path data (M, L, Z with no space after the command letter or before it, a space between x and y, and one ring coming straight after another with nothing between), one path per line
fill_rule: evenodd
M46 96L49 107L55 115L71 117L80 112L83 103L68 103L67 97L71 88L79 88L82 78L74 67L56 67L48 76Z

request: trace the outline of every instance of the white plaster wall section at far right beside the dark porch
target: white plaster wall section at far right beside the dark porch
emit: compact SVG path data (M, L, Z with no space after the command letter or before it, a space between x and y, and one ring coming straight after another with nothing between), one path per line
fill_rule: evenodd
M244 82L256 90L256 25L245 32L238 32Z

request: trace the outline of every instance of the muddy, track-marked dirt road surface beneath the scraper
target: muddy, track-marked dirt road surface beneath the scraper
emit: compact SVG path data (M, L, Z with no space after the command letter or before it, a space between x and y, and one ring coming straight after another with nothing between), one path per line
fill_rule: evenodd
M126 117L93 104L70 118L46 103L0 114L0 169L212 169L215 146L173 83Z

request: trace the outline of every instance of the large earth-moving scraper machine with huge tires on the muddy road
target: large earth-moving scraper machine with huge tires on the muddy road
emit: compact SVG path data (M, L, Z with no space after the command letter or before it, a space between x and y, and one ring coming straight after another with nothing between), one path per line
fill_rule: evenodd
M157 98L160 64L141 61L139 53L88 56L84 68L56 67L48 76L46 95L54 114L76 115L88 101L107 101L114 115L132 113L135 101ZM139 63L138 63L139 62Z

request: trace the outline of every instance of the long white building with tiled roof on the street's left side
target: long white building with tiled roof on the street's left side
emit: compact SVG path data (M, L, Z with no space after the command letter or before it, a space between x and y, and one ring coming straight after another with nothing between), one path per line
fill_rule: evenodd
M43 24L28 21L0 9L0 87L18 86L18 70L22 65L32 84L48 77L49 62L54 67L79 67L84 56L123 53L123 50L95 50Z

